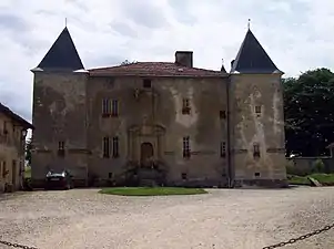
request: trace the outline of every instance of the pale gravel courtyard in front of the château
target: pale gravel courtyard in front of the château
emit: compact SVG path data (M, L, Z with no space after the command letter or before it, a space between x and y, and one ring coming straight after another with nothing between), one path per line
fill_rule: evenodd
M2 195L0 240L40 249L261 249L334 222L332 187L209 191L164 197L108 196L97 189ZM334 229L284 248L334 248Z

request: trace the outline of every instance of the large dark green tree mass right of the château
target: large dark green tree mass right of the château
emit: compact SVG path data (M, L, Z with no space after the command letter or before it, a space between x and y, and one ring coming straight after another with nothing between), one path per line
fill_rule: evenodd
M297 79L284 79L284 115L287 153L327 154L334 142L334 74L317 69Z

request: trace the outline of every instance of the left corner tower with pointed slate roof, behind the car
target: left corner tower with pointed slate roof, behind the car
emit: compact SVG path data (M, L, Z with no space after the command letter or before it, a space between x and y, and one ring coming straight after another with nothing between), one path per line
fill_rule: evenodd
M42 183L49 169L69 169L87 178L88 72L68 28L64 28L33 72L32 180Z

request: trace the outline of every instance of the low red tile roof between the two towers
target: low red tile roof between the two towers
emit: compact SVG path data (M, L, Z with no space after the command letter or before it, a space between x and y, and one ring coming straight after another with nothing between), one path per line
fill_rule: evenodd
M214 70L186 68L172 62L135 62L126 65L89 70L92 76L188 76L221 77L226 73Z

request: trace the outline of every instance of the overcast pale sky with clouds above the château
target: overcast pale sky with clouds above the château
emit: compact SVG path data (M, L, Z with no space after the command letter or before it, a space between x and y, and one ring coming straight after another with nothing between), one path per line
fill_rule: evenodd
M0 102L31 121L32 73L68 28L87 69L123 60L226 70L251 29L285 76L334 65L331 0L0 0Z

